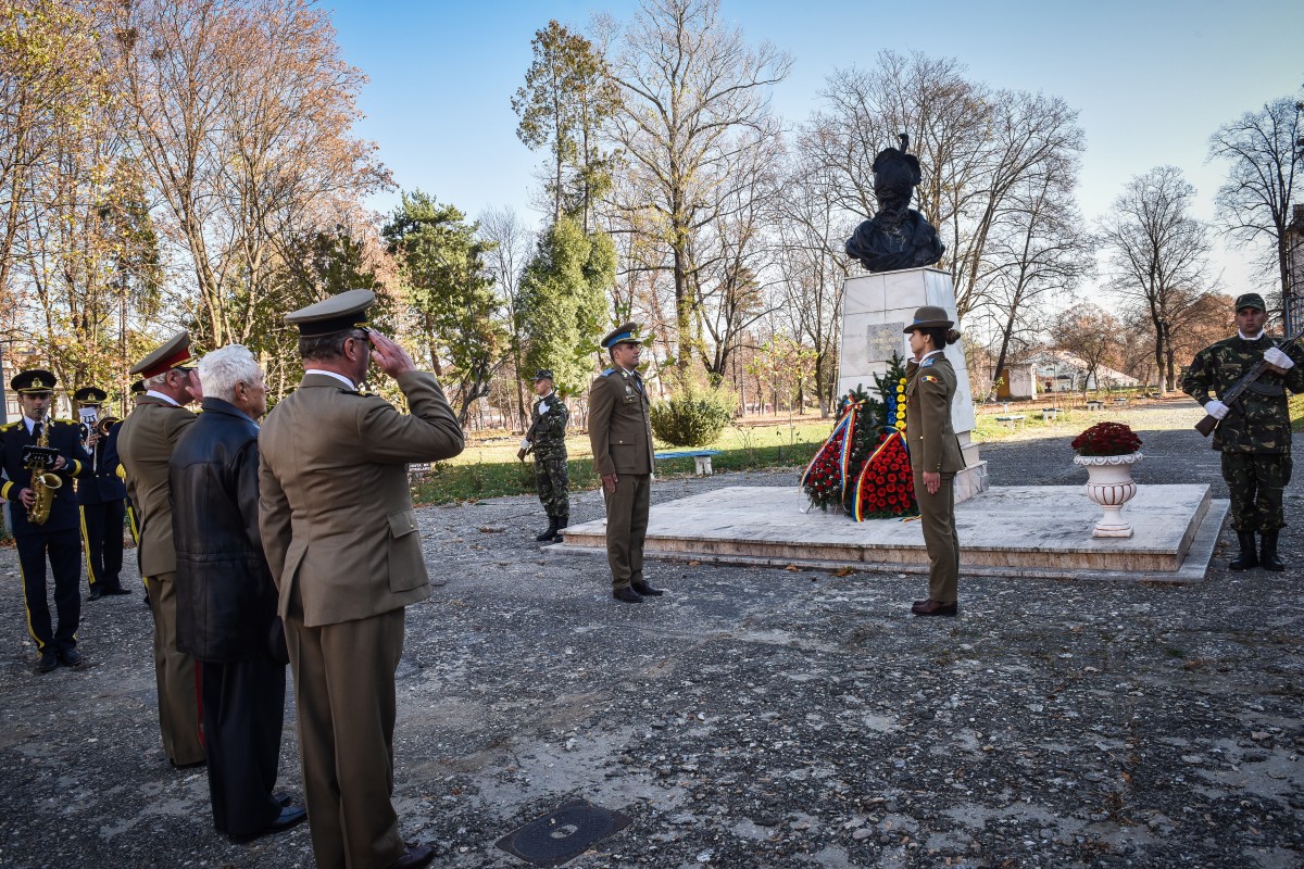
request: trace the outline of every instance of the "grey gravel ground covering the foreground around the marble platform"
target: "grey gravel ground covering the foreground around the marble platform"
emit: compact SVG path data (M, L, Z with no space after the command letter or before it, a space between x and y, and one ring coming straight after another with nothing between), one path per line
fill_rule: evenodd
M1127 421L1142 485L1226 498L1189 408ZM994 485L1082 482L1045 434L986 447ZM674 563L649 565L666 597L617 605L600 560L540 554L533 499L424 509L442 585L408 610L398 676L404 834L437 866L520 866L494 842L584 797L632 817L567 864L585 869L1300 866L1299 492L1286 573L1228 572L1224 528L1202 584L962 577L955 620L910 616L918 578ZM575 499L576 521L600 511ZM3 550L0 625L0 865L313 865L306 826L218 835L203 770L167 765L138 595L86 603L89 664L34 675Z

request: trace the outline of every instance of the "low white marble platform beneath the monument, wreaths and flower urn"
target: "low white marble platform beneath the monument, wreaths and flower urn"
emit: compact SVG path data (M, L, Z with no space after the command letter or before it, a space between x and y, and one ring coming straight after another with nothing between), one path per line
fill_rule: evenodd
M795 487L738 486L652 508L645 554L725 564L926 573L918 521L812 509ZM1198 582L1226 500L1209 486L1142 486L1124 508L1133 535L1091 537L1101 508L1081 486L992 486L956 506L961 575ZM605 521L572 525L550 556L606 555Z

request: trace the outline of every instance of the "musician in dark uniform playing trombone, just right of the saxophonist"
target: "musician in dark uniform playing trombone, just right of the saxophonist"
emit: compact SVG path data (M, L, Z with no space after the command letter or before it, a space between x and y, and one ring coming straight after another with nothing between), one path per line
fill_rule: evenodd
M111 417L99 413L107 400L108 392L94 386L73 392L73 401L78 408L94 409L96 416L91 431L83 431L83 442L91 456L90 473L77 481L82 546L86 550L86 584L90 586L91 601L106 594L130 594L119 578L123 571L126 485L117 476L117 457L108 455L108 436L102 433L107 430L104 423L113 422Z

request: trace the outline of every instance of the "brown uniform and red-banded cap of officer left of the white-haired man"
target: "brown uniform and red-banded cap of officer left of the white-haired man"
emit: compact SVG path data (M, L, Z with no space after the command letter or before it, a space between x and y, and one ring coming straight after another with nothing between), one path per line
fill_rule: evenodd
M190 360L190 336L175 335L132 369L151 378ZM121 425L117 449L126 472L126 491L140 511L137 556L154 612L154 677L158 683L163 750L176 766L203 761L200 737L200 684L194 658L176 645L176 550L168 461L196 416L184 406L149 393L141 396Z

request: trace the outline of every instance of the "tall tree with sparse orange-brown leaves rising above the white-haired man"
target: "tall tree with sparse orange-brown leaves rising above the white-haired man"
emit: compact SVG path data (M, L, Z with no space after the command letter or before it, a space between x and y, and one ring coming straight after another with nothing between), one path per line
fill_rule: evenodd
M170 240L193 267L206 341L245 340L275 258L322 212L387 184L349 137L365 78L306 0L120 8L119 76Z

